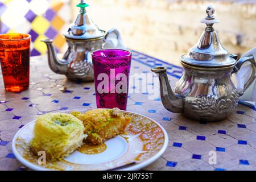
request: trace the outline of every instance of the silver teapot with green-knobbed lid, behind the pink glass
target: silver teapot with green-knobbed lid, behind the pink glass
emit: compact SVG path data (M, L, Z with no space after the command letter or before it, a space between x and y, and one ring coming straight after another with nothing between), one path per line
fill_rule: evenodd
M83 0L77 5L77 7L80 7L80 14L72 27L69 28L68 33L64 35L68 43L68 50L65 52L63 59L57 59L52 44L53 40L42 40L46 43L48 49L48 64L51 70L65 75L73 81L88 82L94 80L92 51L103 47L126 49L117 29L112 28L106 33L93 23L85 10L88 6ZM109 37L114 37L114 39L108 41Z

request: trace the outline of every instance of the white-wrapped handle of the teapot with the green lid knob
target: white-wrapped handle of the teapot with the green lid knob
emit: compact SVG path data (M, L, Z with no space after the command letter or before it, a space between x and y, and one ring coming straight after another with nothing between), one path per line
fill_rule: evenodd
M105 35L104 48L118 48L127 50L127 48L123 44L121 34L117 30L117 28L110 29Z

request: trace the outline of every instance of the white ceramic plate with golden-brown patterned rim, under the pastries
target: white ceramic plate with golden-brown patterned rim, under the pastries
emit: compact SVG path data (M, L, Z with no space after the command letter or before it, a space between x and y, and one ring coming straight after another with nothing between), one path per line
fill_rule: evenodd
M110 170L123 166L122 170L138 170L146 167L166 150L168 135L163 127L152 119L129 111L122 112L132 118L125 134L90 150L86 147L86 150L80 148L59 162L46 162L43 165L38 162L40 156L32 154L29 147L33 138L34 120L16 133L12 143L14 155L19 162L34 170ZM133 165L126 166L131 163Z

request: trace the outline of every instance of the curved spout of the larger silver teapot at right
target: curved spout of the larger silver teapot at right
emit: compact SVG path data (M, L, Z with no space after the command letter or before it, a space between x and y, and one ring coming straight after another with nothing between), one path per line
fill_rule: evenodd
M172 91L168 81L167 68L156 67L151 69L152 72L158 74L160 81L160 94L164 107L172 113L183 112L183 98L179 94Z

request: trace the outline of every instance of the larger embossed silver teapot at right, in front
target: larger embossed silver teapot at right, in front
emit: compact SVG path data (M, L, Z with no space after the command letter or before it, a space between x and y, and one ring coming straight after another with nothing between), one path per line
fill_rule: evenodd
M174 113L197 121L220 121L228 117L238 104L238 97L255 80L256 61L253 53L237 61L236 55L229 55L221 46L213 24L219 21L213 16L214 8L209 6L207 17L201 22L207 24L197 44L186 55L181 56L184 74L172 91L168 82L167 68L151 69L159 76L160 94L164 107ZM254 48L255 55L256 48ZM237 89L231 80L244 63L251 63L251 75L243 89Z

